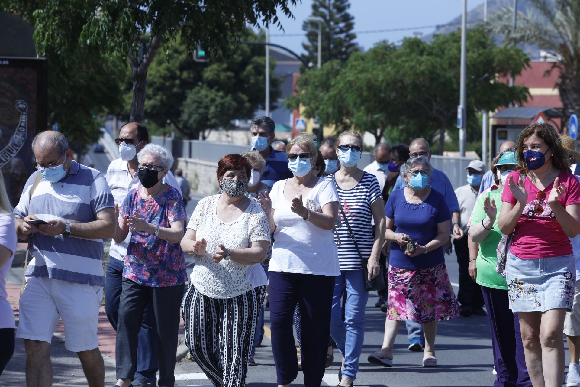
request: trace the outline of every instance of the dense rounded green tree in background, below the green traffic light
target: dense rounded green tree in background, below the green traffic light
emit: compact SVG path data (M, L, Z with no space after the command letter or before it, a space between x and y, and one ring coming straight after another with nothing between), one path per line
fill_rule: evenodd
M263 41L248 29L244 40ZM235 119L252 118L264 107L265 62L262 46L240 45L229 58L214 53L208 63L194 62L183 41L159 52L148 71L145 117L155 125L170 124L184 138L204 138L206 129L228 128ZM280 79L270 60L270 96L280 96ZM270 108L276 104L271 103Z

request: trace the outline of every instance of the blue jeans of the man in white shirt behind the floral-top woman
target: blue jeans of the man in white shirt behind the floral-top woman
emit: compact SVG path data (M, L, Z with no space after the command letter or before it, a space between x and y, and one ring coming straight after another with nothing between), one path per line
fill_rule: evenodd
M116 258L109 259L107 265L107 277L105 279L105 313L107 319L117 331L119 320L119 302L122 291L123 261ZM134 379L156 381L155 374L159 370L157 360L157 328L153 317L151 302L143 313L143 322L137 338L137 372Z

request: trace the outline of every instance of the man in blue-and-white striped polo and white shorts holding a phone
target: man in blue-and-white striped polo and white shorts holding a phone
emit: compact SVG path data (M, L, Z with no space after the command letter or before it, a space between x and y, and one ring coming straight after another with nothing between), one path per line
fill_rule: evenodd
M31 238L16 331L26 348L27 385L52 385L50 341L60 318L65 346L77 352L88 385L103 387L97 320L103 238L115 233L113 195L99 171L73 160L60 132L39 133L32 151L38 171L28 178L14 209L19 239Z

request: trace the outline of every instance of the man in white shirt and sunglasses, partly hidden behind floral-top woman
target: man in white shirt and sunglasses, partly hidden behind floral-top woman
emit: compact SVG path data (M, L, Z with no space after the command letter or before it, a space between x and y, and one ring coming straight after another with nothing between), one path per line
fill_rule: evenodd
M107 183L113 193L115 203L122 204L125 197L132 189L141 186L137 175L137 153L149 142L149 133L143 124L130 122L124 125L115 139L119 146L121 158L113 160L107 169ZM171 171L162 180L179 191L179 183ZM131 241L131 233L122 243L111 241L110 259L107 265L107 279L105 291L105 312L113 328L117 330L119 317L119 302L121 301L121 281L123 274L123 262L127 255L127 247ZM137 372L133 380L133 386L154 386L157 378L155 374L159 370L157 360L157 332L153 319L153 306L147 305L143 314L143 322L139 331L137 345Z

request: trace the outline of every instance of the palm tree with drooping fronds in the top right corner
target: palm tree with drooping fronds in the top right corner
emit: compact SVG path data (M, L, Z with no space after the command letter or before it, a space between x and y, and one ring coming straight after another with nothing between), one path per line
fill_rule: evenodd
M528 0L533 8L519 12L517 27L512 25L513 8L505 7L491 17L489 31L506 44L532 44L556 56L548 71L557 69L556 86L564 106L564 122L580 113L580 1ZM564 126L564 125L563 125Z

